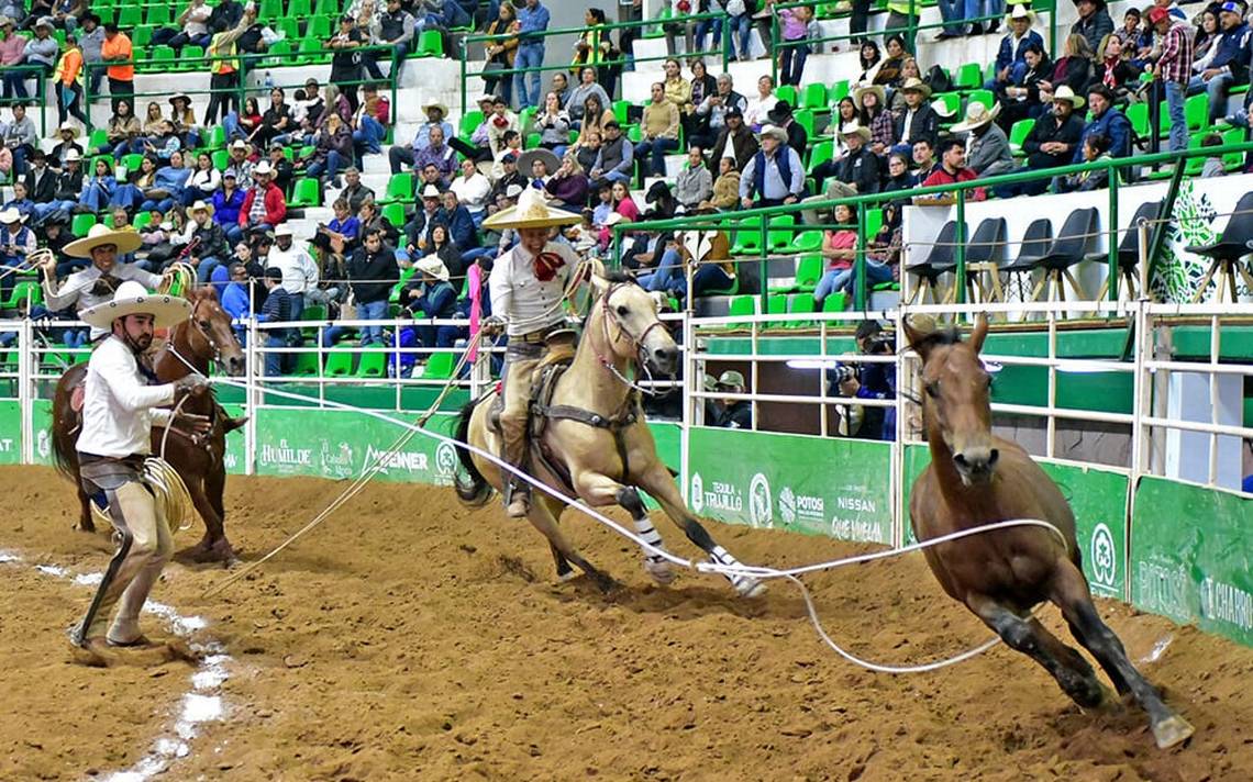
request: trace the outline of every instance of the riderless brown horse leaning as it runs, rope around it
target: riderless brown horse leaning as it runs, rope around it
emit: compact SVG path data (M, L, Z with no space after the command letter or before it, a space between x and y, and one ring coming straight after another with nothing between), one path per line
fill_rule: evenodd
M922 358L922 415L931 445L931 464L910 497L918 541L1006 519L1049 522L1065 537L1014 527L931 547L927 564L940 586L1006 644L1044 666L1075 703L1094 708L1106 691L1091 666L1031 616L1032 607L1051 602L1119 694L1130 692L1148 711L1158 747L1185 741L1193 727L1135 669L1093 604L1066 499L1021 447L992 435L991 375L979 359L987 319L980 317L969 343L954 330L922 333L906 324L905 333Z

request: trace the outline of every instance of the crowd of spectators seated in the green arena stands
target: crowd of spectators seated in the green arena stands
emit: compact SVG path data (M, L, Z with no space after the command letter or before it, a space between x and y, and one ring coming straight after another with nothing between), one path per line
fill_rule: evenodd
M936 38L1002 35L990 78L981 85L992 95L990 101L967 100L954 111L937 99L950 91L950 74L936 68L940 64L920 63L905 31L888 31L853 41L855 86L834 105L811 113L812 125L798 119L794 85L801 84L807 55L829 45L814 40L818 26L811 9L778 10L773 0L675 0L663 29L672 51L680 38L688 51L717 50L725 23L732 31L728 54L752 60L757 55L749 48L751 28L758 25L768 41L771 18L777 15L786 40L809 41L766 55L779 59L786 96L764 73L767 59L757 59L763 73L754 83L738 85L728 73L710 73L715 58L672 56L647 103L626 108L625 121L614 110L614 96L623 69L633 66L632 38L638 31L610 34L603 29L605 14L595 8L586 11L588 26L570 68L541 78L497 74L544 61L546 39L538 33L548 29L549 13L539 0L516 6L495 0L387 0L382 6L355 0L326 41L333 53L327 85L308 79L296 90L272 86L239 105L241 74L249 58L273 44L273 30L258 20L252 4L222 0L209 8L204 0L192 0L175 25L153 33L145 48L194 45L222 58L212 61L211 79L223 91L214 94L198 120L185 94L147 101L142 109L134 105L133 60L144 51L127 30L101 24L86 0L34 0L31 9L23 3L0 3L0 65L6 66L3 85L9 101L9 116L0 121L0 178L13 183L3 215L16 215L9 223L0 220L0 264L20 264L29 243L31 249L48 245L55 251L68 240L75 218L91 214L140 233L142 249L130 260L152 270L189 263L200 282L217 284L224 298L242 269L252 289L243 300L261 315L299 318L306 305L316 304L327 307L328 317L346 307L375 319L386 317L388 303L416 315L465 314L471 298L487 300L467 278L486 279L481 272L515 241L511 231L484 231L482 221L528 188L580 214L581 225L565 239L598 253L609 250L609 229L621 221L900 193L886 204L882 226L872 236L858 235L848 209L802 213L803 223L829 226L821 249L827 269L814 294L821 305L855 284L852 259L862 245L868 283L898 277L901 208L951 203L944 196L912 196L916 186L1129 156L1143 141L1126 115L1136 103L1165 101L1170 149L1188 144L1188 95L1208 95L1207 124L1248 126L1247 104L1239 111L1227 109L1233 89L1248 84L1250 60L1247 8L1230 0L1197 4L1190 19L1169 0L1157 0L1143 11L1129 10L1118 28L1101 0L1079 0L1079 21L1069 35L1059 36L1056 61L1050 60L1029 6L1011 6L1002 33L1002 23L969 23L960 4L942 3L949 24ZM866 30L867 6L868 0L851 5L855 33ZM995 6L989 4L984 15L999 14ZM888 10L890 25L916 23L908 0L892 0ZM699 24L674 21L709 11L725 16ZM462 125L469 131L462 135L446 106L424 106L426 121L411 139L393 139L387 153L391 171L412 171L412 178L411 189L388 193L397 198L383 200L412 206L385 215L380 194L361 184L365 159L382 153L395 120L390 90L371 80L385 79L381 64L387 63L386 78L395 76L424 30L447 35L471 26L500 36L485 51L487 93L475 100L480 119L474 128ZM18 30L31 30L29 40ZM54 31L64 33L64 45ZM370 45L392 49L361 51ZM8 68L14 65L31 68ZM31 89L36 80L43 86ZM548 90L541 90L544 83ZM29 95L46 90L55 94L61 118L49 153L25 104ZM84 138L86 94L109 101L103 143L86 144ZM1034 126L1016 156L1009 135L1021 120L1034 120ZM214 134L221 134L224 149L202 148ZM816 151L823 146L829 154L819 160ZM672 155L682 155L678 170ZM1205 166L1207 175L1222 170ZM283 246L293 243L284 225L301 179L317 180L335 219L318 228L307 251L303 241L296 241L293 259ZM1011 198L1105 184L1103 175L1042 176L975 189L970 196ZM633 193L644 185L652 188L642 204ZM621 248L624 263L650 289L682 298L688 289L684 264L715 262L702 264L694 293L727 290L736 277L730 243L725 231L714 233L723 235L705 235L702 241L630 231ZM267 264L281 265L282 278L263 282ZM471 275L475 267L480 273ZM63 259L59 270L74 268L75 262ZM390 282L402 272L408 282L397 297ZM3 285L11 288L13 282L14 275L6 275ZM287 305L267 310L266 287L279 290ZM241 300L237 294L231 292L232 302ZM273 295L277 302L279 294ZM6 298L0 288L0 300ZM363 344L385 338L373 328L360 334ZM323 334L328 340L336 337L333 330ZM440 329L405 335L415 344L439 347L457 337Z

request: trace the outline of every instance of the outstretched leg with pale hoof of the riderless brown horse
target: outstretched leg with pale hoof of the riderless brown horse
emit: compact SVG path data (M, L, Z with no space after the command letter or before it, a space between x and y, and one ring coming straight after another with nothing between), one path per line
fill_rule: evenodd
M1194 728L1165 704L1157 688L1128 659L1123 642L1096 612L1088 583L1079 568L1066 562L1059 571L1054 591L1054 602L1061 608L1070 627L1076 631L1079 643L1093 653L1115 684L1121 679L1136 702L1149 712L1149 726L1153 728L1158 747L1165 749L1187 741Z

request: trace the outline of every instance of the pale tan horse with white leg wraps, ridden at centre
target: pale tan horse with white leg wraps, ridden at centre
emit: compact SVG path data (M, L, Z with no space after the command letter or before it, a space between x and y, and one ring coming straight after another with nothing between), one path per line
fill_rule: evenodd
M657 374L673 374L678 367L679 349L657 317L657 299L620 275L593 277L593 285L599 297L588 315L574 362L554 388L548 425L540 442L533 443L530 472L594 508L621 505L635 520L637 534L662 548L662 538L637 490L644 489L712 562L738 566L683 503L674 477L657 457L639 394L625 379L642 365ZM461 410L459 442L500 453L500 433L489 423L495 398L492 392ZM457 495L467 504L486 503L492 488L501 487L501 470L465 448L457 450L469 474L469 482L459 477ZM549 541L558 576L569 578L573 562L603 589L609 589L613 579L588 563L561 533L558 518L564 508L565 503L540 490L529 515ZM654 581L663 584L673 581L665 559L647 549L644 553L644 569ZM754 578L737 574L728 579L744 597L756 597L766 589Z

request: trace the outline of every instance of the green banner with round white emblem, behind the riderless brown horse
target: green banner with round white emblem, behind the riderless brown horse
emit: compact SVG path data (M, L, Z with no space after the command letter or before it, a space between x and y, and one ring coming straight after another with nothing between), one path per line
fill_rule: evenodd
M905 542L916 543L908 519L910 490L931 463L926 445L905 449ZM1120 472L1073 464L1036 463L1061 489L1075 514L1075 539L1093 593L1121 599L1126 589L1126 499L1129 479Z

